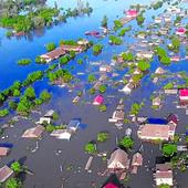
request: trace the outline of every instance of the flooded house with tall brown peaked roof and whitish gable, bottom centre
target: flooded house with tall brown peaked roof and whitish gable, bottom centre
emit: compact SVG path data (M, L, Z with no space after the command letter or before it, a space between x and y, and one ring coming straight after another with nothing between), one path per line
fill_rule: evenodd
M111 158L107 161L108 169L128 169L129 168L129 159L128 154L123 149L117 148L111 154Z

